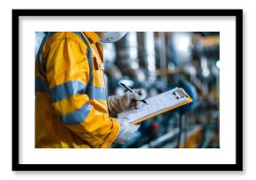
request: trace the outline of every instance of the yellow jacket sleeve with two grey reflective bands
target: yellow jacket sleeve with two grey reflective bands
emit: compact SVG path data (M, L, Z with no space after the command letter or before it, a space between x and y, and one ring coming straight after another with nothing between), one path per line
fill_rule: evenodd
M109 148L119 126L116 119L90 103L87 49L71 39L56 40L45 59L51 104L58 119L92 148Z

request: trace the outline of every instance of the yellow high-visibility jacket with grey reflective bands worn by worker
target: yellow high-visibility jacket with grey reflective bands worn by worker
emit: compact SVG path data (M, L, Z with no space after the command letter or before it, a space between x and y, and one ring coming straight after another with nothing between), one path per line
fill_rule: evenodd
M109 148L102 44L95 32L48 32L35 63L35 148Z

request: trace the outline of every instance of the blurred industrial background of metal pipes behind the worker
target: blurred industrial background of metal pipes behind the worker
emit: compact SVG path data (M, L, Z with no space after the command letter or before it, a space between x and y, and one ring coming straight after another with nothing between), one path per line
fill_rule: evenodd
M36 32L35 52L44 35ZM183 87L193 99L112 148L219 148L219 40L219 32L128 32L104 44L108 96L124 94L123 82L147 97Z

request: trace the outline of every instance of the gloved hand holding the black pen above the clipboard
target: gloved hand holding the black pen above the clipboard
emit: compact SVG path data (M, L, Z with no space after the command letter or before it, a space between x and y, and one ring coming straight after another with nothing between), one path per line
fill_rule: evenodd
M108 97L107 103L110 112L120 113L125 110L131 109L132 107L138 108L140 101L147 96L146 90L134 89L137 94L130 91L126 92L123 96L110 96Z

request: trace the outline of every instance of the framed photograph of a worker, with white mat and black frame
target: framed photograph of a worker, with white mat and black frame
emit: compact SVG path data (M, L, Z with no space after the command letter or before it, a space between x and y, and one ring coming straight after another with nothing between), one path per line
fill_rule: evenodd
M243 11L12 10L12 170L243 170Z

